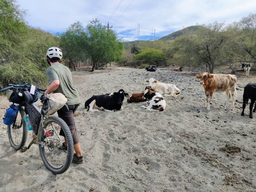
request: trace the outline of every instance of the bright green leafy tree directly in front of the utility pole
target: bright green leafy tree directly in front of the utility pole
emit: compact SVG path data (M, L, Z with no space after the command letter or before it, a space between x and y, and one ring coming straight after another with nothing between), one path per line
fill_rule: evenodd
M106 30L95 18L87 25L85 32L84 48L93 63L92 71L108 62L121 59L123 44L113 30ZM98 65L99 63L101 64Z

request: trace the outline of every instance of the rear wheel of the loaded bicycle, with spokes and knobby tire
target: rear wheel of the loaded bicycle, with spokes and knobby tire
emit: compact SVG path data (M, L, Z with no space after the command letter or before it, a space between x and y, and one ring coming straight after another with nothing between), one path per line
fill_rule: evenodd
M68 143L68 149L60 148L65 142L64 137L59 135L60 130L65 134ZM48 137L47 137L48 135ZM64 173L73 159L73 138L68 125L61 118L51 116L44 120L44 127L38 131L39 151L46 168L54 174Z

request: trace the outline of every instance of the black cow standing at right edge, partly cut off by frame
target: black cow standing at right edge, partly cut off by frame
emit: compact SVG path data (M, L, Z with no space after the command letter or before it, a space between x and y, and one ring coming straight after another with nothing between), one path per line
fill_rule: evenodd
M253 104L256 101L256 83L248 83L245 87L244 87L244 91L243 91L243 111L241 113L242 116L244 116L244 109L245 106L248 104L249 99L251 100L251 104L250 104L250 118L252 119L252 108L253 108ZM256 111L256 105L253 109L253 112Z

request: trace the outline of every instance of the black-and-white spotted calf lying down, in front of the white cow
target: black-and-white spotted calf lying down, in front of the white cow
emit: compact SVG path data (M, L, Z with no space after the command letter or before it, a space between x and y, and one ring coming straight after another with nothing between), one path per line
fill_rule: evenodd
M140 106L148 111L163 111L165 109L166 103L163 95L156 93L154 89L147 86L144 91L143 99L146 99L147 106Z

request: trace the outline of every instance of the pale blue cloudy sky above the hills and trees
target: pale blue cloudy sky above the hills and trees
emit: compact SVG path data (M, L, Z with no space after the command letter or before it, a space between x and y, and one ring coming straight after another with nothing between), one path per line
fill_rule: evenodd
M101 23L107 20L121 2L110 26L123 13L132 0L17 0L20 8L27 10L26 21L52 34L65 31L69 25L80 21L86 26L98 17ZM153 27L160 38L183 27L209 24L215 21L231 23L256 13L252 0L133 0L123 15L113 25L119 37L125 41L137 40L137 25L140 23L140 39L150 39Z

